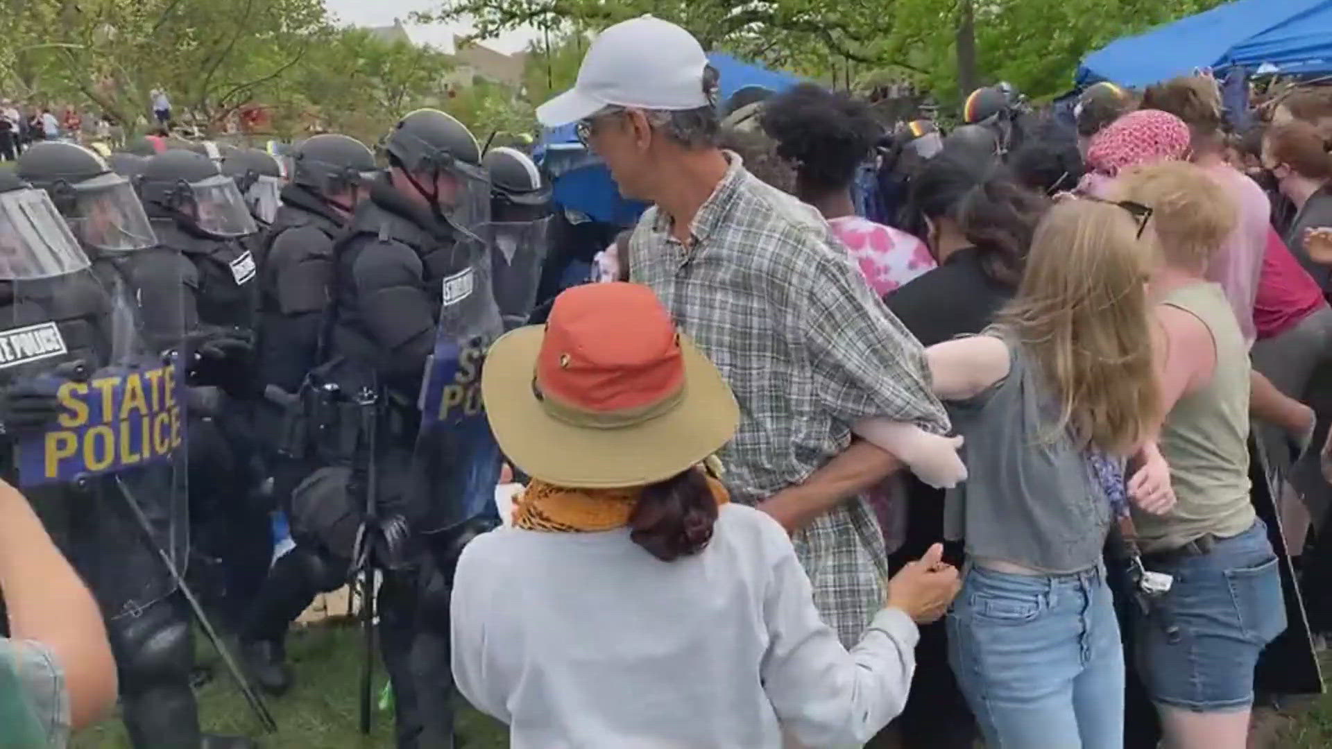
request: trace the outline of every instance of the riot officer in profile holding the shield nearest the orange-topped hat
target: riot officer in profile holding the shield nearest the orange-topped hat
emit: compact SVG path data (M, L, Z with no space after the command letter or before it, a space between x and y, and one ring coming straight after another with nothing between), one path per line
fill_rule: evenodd
M422 373L437 380L432 372L448 372L449 380L457 374L458 388L452 393L458 401L453 402L466 401L474 389L476 359L502 331L490 292L489 255L480 239L490 188L476 137L444 112L420 109L405 116L386 136L384 151L388 173L370 185L369 199L334 251L325 368L344 393L366 386L382 393L374 454L380 492L370 518L386 568L380 642L393 681L398 746L440 748L453 745L448 569L476 530L465 522L473 513L461 509L465 484L468 478L489 481L493 504L498 456L470 454L481 440L493 441L484 425L477 429L477 409L468 410L462 428L434 418L438 394L434 405L424 398L425 412L417 402L429 389L422 388ZM445 422L460 428L422 428ZM346 485L326 480L326 470L297 489L297 514L302 505L346 504L302 497Z

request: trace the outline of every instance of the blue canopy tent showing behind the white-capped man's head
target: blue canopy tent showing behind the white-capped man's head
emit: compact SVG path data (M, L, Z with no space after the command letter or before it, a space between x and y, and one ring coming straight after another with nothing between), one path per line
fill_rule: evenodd
M709 53L707 61L721 73L718 93L722 101L746 87L767 88L778 93L801 81L791 73L742 63L725 52ZM646 208L642 203L619 196L610 171L578 143L571 124L542 132L533 157L550 173L554 200L565 208L621 227L633 224Z

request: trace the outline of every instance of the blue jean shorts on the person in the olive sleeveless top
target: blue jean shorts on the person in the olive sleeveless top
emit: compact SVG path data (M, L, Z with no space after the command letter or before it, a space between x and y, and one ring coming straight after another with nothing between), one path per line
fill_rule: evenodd
M1135 613L1136 664L1148 696L1195 713L1252 706L1257 657L1285 630L1267 526L1257 521L1205 554L1144 561L1175 578L1148 614Z

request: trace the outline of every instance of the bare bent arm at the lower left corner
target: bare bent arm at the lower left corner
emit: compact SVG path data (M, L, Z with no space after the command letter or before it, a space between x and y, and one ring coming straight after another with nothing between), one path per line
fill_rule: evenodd
M97 602L28 500L3 481L0 592L9 612L9 636L40 642L63 669L72 728L107 716L116 702L116 661Z

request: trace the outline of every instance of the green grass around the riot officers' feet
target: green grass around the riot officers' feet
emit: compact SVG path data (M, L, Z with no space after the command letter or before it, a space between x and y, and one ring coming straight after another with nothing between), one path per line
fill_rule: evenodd
M200 637L202 640L202 637ZM345 625L293 630L288 652L296 669L296 686L282 697L269 697L278 733L262 736L258 721L236 690L209 645L200 648L200 662L212 664L214 678L200 689L204 728L216 733L250 736L264 749L392 749L393 712L374 713L372 736L362 737L358 685L361 682L360 630ZM376 664L374 694L388 681ZM501 749L507 732L470 708L458 712L458 732L468 749ZM75 749L129 749L120 721L109 721L73 742Z

